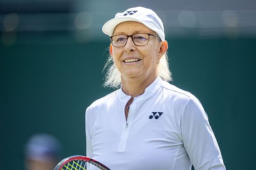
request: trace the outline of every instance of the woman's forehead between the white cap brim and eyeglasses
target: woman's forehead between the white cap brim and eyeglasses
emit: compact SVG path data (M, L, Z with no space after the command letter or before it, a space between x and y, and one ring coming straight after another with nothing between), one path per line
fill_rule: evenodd
M135 33L149 33L154 34L155 32L147 28L140 22L136 21L125 21L119 23L114 29L113 35L115 34L135 34Z

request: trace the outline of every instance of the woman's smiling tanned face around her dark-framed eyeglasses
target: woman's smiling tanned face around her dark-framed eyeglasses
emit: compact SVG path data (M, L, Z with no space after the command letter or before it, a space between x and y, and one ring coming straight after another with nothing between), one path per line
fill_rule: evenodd
M136 33L156 33L142 23L136 21L126 21L116 26L113 35L132 35ZM139 80L155 79L157 73L157 60L166 52L167 47L161 47L162 42L158 42L155 36L150 36L148 44L138 46L129 37L125 46L114 47L110 45L110 54L113 57L117 69L121 73L121 80L139 78ZM164 51L164 52L163 52Z

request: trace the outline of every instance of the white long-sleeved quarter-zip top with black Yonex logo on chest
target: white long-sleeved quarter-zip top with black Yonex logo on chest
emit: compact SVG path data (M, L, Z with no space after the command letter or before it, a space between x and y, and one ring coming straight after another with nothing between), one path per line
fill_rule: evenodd
M130 106L120 89L86 111L87 156L112 170L225 169L198 99L158 77ZM97 168L90 168L97 169Z

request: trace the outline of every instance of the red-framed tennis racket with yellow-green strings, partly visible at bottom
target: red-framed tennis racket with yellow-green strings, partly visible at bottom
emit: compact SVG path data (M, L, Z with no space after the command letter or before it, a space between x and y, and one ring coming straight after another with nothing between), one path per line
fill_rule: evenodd
M102 163L81 155L70 156L61 160L54 170L86 170L87 166L90 164L93 164L102 170L110 170L110 168L106 167Z

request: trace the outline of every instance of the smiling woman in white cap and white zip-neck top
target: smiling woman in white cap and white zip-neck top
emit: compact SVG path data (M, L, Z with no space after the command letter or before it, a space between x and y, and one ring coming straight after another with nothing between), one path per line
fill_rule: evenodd
M168 44L157 14L130 8L102 31L113 61L104 85L121 87L87 108L87 156L114 170L225 169L200 102L167 83Z

